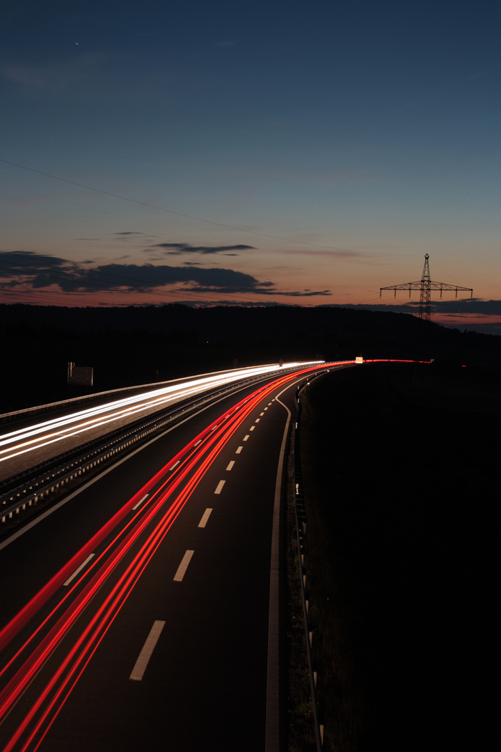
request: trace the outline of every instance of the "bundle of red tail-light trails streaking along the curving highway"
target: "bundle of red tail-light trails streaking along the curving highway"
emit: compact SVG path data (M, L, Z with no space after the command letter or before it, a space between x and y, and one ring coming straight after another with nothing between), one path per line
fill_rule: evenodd
M310 370L313 369L304 369L300 371L300 374ZM219 457L234 432L240 428L243 421L248 419L252 410L273 390L297 379L300 374L297 371L293 374L285 374L282 378L266 384L207 426L134 494L17 614L17 617L14 617L2 629L0 648L5 647L14 635L26 626L62 584L66 582L71 585L68 590L65 588L65 595L60 598L50 614L44 618L0 672L0 676L6 675L8 670L14 669L16 663L21 663L0 693L0 723L3 723L11 714L14 706L30 685L33 685L35 689L35 680L38 683L47 682L42 690L36 690L35 693L38 696L32 701L31 708L27 711L23 708L23 720L14 733L11 732L11 738L4 752L11 752L17 748L19 750L38 749L140 575L193 491L204 478L208 468ZM148 496L147 502L146 496ZM125 520L131 511L134 514ZM91 560L89 553L103 544L106 538L110 538L111 533L124 521L125 524L114 533L113 539L107 542L104 550L96 553ZM141 538L143 538L142 542ZM135 553L134 547L138 547ZM128 563L125 561L126 556L131 557ZM89 566L84 570L80 581L71 584L72 578L68 579L68 575L74 573L77 568L81 569L84 559ZM111 584L110 593L106 594L103 586L121 562L124 562L125 571L118 575L116 583ZM83 617L86 608L92 601L95 602L95 597L100 592L103 598L101 604L97 605L94 614L89 614L88 623L76 629L77 620ZM56 620L55 623L50 626L54 620ZM44 629L48 629L45 635L43 635ZM32 647L36 637L39 637L40 641ZM62 641L65 638L71 638L73 644L68 653L58 659L59 666L55 671L51 669L52 675L47 681L43 678L42 669L47 666L47 661L52 656L56 657L58 647L64 647ZM29 653L29 650L32 652ZM23 659L26 653L29 654Z

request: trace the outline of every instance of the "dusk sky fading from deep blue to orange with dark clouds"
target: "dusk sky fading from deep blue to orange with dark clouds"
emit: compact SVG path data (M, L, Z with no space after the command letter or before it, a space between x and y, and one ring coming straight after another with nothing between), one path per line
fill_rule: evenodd
M501 334L501 4L2 3L0 302ZM379 310L381 310L379 308Z

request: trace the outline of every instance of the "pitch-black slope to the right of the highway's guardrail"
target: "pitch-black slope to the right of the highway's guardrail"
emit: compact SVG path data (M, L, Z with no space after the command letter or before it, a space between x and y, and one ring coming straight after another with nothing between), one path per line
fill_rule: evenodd
M487 749L499 378L364 365L306 391L306 576L328 750Z

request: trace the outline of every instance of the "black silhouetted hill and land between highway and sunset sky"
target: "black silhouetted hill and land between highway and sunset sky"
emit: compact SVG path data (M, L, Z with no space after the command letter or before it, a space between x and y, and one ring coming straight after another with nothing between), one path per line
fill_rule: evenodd
M92 391L232 368L234 359L241 366L355 355L501 364L494 335L348 308L0 305L0 344L0 412L76 396L66 384L68 361L93 366Z

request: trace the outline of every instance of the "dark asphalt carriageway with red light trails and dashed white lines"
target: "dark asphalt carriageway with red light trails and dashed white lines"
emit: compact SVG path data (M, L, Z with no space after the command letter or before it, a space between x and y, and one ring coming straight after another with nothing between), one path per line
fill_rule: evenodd
M214 399L0 543L2 750L279 750L282 459L326 367Z

